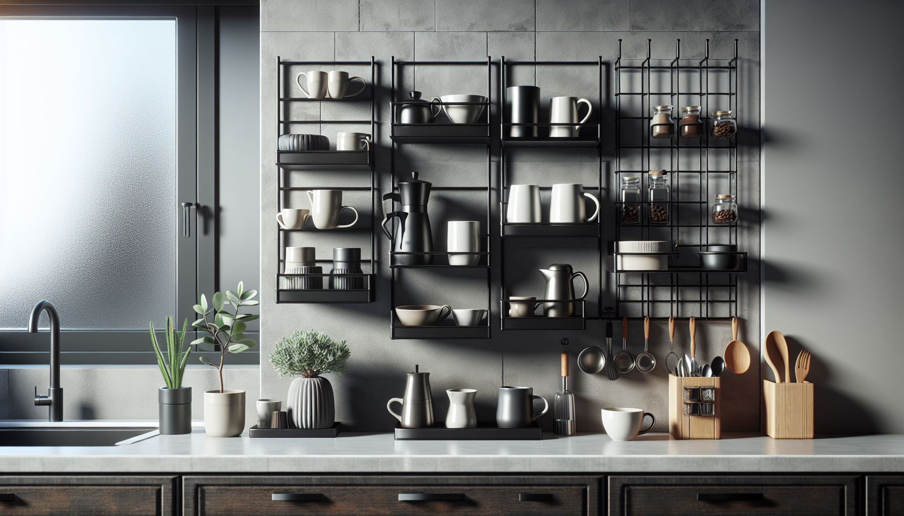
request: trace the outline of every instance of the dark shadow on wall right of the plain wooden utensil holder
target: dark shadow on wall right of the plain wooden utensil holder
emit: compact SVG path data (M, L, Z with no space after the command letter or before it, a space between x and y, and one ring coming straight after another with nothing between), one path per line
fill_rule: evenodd
M807 349L802 345L803 338L785 335L788 343L788 361L792 374L790 380L794 381L793 370L797 354ZM812 346L809 347L812 349ZM852 434L871 435L880 432L875 418L863 408L857 401L848 398L843 393L830 387L833 372L824 361L819 360L819 355L810 358L810 372L806 380L814 383L814 429L817 434Z

